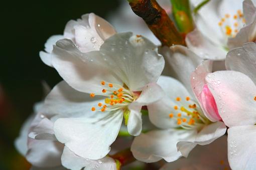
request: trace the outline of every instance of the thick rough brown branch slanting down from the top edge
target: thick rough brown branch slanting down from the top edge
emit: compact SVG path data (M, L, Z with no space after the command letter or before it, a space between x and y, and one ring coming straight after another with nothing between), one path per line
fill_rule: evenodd
M177 31L165 10L156 0L128 0L133 12L141 17L163 46L185 45L184 37Z

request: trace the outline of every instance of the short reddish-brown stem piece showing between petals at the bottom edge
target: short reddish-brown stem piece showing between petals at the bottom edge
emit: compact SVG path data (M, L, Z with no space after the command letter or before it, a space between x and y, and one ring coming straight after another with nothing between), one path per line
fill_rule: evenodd
M110 155L110 157L115 159L117 170L120 169L121 166L132 163L133 161L136 160L130 148L124 149L113 155Z

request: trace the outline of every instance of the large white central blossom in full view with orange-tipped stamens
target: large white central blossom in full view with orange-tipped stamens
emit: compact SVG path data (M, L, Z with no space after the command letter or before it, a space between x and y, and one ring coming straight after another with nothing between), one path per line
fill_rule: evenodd
M52 64L72 88L58 84L46 98L44 113L58 114L57 139L82 157L104 157L123 117L129 133L139 135L142 106L163 96L155 82L164 59L154 44L132 33L115 34L99 51L89 53L80 52L70 40L60 40Z

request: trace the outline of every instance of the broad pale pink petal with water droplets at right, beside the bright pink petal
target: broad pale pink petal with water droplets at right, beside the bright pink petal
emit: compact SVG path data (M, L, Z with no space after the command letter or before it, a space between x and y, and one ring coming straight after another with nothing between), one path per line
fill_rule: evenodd
M256 86L251 79L236 71L218 71L206 76L218 112L228 126L256 123Z

